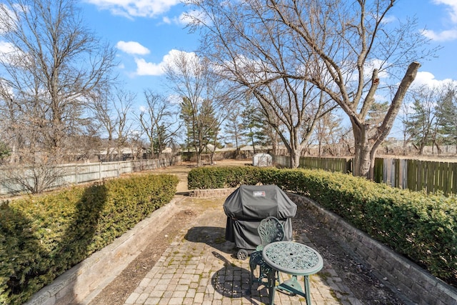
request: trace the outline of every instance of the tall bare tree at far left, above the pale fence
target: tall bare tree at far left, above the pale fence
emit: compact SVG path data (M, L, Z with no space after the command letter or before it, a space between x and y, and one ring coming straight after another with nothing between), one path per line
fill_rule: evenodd
M114 49L84 26L74 0L6 0L0 28L10 49L0 56L2 116L30 126L11 125L11 146L32 140L63 155L87 122L87 96L112 79Z

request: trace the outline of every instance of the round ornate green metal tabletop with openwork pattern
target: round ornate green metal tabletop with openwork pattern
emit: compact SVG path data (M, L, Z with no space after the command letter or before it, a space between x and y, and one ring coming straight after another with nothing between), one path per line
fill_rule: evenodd
M276 241L263 249L263 260L269 266L286 274L308 276L322 269L321 254L304 244Z

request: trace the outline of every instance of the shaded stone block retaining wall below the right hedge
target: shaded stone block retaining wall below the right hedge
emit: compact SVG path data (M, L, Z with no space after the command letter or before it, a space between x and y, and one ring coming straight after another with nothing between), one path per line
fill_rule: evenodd
M336 214L326 211L315 201L289 194L296 204L304 204L313 215L371 265L380 281L392 290L398 289L415 304L457 305L457 289L431 276L412 261L388 249Z

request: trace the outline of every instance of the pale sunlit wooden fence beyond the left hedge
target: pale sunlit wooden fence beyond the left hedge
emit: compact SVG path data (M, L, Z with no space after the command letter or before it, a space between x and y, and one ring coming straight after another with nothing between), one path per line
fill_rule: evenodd
M181 162L181 156L153 160L131 160L115 162L98 162L88 164L63 164L58 166L59 179L51 189L109 178L119 178L121 174L138 171L149 171ZM32 178L30 178L32 179ZM24 192L21 186L14 184L0 171L0 196Z

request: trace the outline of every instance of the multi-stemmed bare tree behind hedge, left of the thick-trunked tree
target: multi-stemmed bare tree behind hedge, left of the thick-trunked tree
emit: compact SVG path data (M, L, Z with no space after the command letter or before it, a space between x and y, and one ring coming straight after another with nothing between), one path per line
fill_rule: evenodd
M296 57L294 41L283 39L287 32L269 18L268 6L256 1L191 2L204 11L201 19L193 16L194 25L206 30L201 52L219 65L221 75L257 99L266 123L297 167L316 121L332 109L331 99L303 77L313 70ZM289 76L290 70L302 77Z

